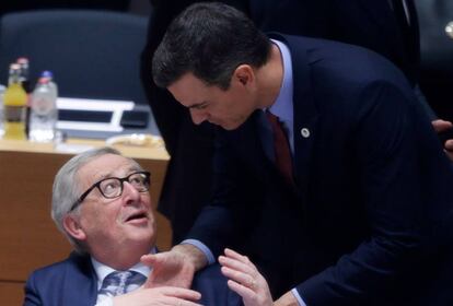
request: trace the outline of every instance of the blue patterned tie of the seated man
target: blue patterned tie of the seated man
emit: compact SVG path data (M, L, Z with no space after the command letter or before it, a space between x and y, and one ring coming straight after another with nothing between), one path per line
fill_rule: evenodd
M105 296L121 295L135 291L141 286L146 280L146 276L136 271L115 271L104 279L98 294Z

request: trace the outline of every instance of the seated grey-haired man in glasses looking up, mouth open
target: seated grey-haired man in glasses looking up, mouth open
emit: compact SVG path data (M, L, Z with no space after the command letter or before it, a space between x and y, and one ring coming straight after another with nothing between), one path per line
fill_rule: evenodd
M149 187L150 173L114 149L66 163L51 216L76 251L32 273L24 305L240 305L219 268L197 274L194 290L141 286L152 268L140 257L156 251Z

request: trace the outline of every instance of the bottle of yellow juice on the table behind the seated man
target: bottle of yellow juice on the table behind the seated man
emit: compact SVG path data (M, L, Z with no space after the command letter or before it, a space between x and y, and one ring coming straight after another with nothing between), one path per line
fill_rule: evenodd
M4 139L26 140L25 111L27 95L20 81L21 68L10 66L8 89L3 96Z

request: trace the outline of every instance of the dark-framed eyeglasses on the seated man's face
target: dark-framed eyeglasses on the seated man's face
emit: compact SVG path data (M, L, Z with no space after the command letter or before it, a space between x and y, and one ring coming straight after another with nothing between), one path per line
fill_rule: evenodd
M137 191L147 192L150 190L150 177L151 174L149 172L136 172L123 178L107 177L101 179L86 189L86 191L72 204L69 211L73 211L79 207L94 188L97 188L101 191L101 195L106 199L120 197L123 195L125 181L129 183Z

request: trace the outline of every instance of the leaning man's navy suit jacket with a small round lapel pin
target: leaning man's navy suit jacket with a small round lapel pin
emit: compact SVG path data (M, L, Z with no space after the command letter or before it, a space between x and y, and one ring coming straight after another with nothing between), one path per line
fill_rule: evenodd
M292 57L297 187L256 111L219 130L213 199L189 237L216 255L245 239L275 296L297 286L307 305L450 305L431 299L452 295L451 282L433 284L453 176L406 79L362 48L274 37ZM241 177L259 200L244 201Z

